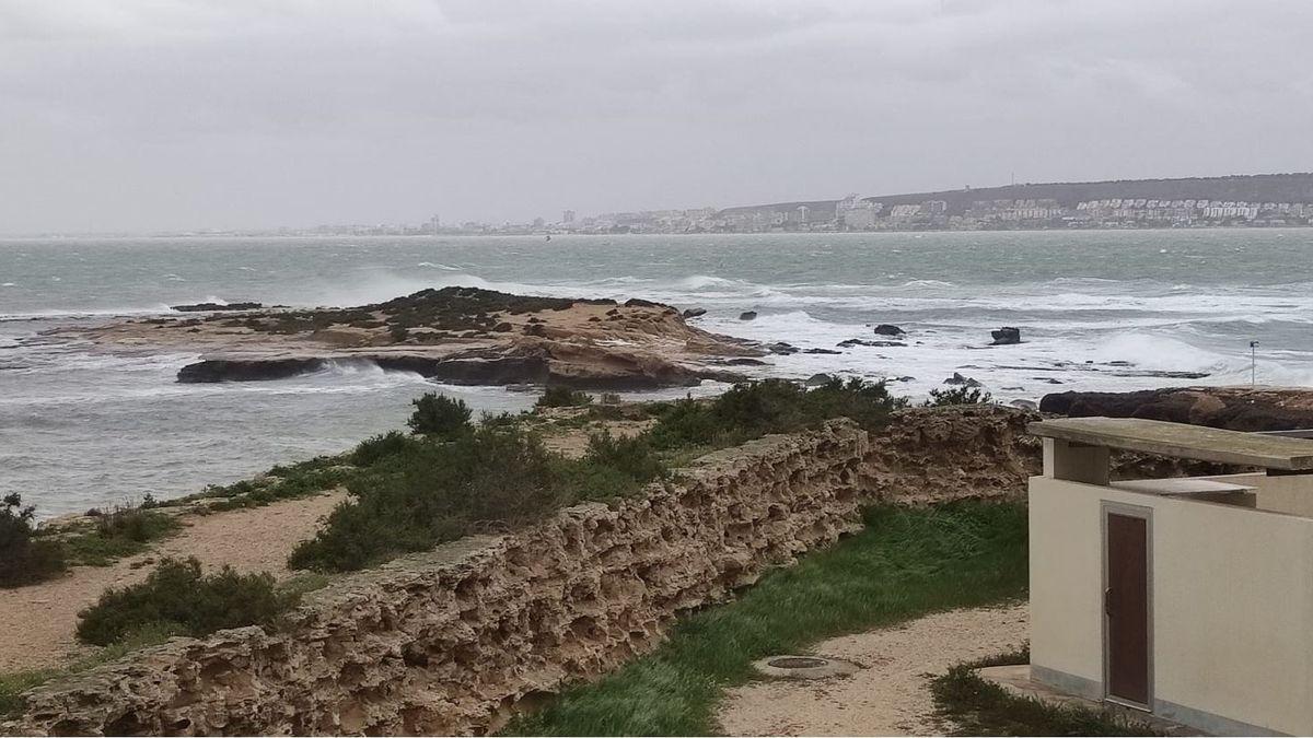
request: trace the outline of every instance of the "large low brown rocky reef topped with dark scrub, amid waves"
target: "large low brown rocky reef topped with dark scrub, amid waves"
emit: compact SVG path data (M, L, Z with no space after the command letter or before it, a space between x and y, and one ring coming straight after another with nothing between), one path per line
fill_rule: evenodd
M256 303L247 303L256 305ZM108 351L201 353L180 382L282 380L370 362L460 385L561 383L625 390L739 381L725 369L764 355L689 326L674 307L630 299L428 289L360 307L290 310L202 303L194 315L71 327Z

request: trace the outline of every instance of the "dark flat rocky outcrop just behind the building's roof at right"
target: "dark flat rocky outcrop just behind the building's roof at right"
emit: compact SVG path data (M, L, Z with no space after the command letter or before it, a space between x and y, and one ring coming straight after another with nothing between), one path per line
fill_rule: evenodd
M1230 431L1313 428L1313 390L1167 387L1133 393L1056 393L1040 411L1073 418L1148 418Z

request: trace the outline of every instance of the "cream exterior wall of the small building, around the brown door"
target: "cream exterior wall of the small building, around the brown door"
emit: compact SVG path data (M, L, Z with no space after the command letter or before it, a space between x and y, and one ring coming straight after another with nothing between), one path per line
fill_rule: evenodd
M1152 508L1154 712L1224 733L1313 731L1313 520L1031 479L1031 663L1103 696L1104 502Z

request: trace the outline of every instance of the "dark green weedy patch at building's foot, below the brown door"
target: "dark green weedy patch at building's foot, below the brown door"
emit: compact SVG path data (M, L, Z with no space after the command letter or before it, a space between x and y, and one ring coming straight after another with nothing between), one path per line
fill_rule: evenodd
M1019 697L976 675L977 668L1029 663L1018 651L955 666L930 689L939 714L956 725L955 735L1162 735L1142 722L1104 710L1049 705Z

